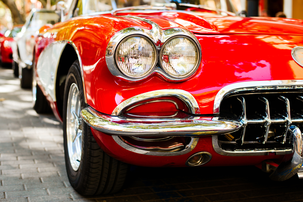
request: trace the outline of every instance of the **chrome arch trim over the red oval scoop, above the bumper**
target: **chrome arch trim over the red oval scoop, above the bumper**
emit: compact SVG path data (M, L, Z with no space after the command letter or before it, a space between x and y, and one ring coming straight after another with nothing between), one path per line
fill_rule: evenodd
M200 114L199 105L196 99L194 98L194 96L192 96L190 93L188 93L185 90L179 90L179 89L163 89L163 90L154 90L154 91L149 91L147 93L142 93L123 101L114 109L114 111L112 112L112 116L121 115L128 107L138 102L147 99L160 98L165 96L174 96L181 99L187 105L188 109L191 110L190 113Z

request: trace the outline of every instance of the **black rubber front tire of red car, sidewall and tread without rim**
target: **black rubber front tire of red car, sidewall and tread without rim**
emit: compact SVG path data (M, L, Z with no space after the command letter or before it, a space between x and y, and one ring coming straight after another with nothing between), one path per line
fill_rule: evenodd
M77 171L72 168L67 146L67 102L72 83L77 84L81 110L88 105L84 102L79 61L76 60L68 71L63 101L63 138L65 165L72 187L82 195L109 194L119 191L125 181L128 165L108 156L97 144L92 131L82 120L82 153Z

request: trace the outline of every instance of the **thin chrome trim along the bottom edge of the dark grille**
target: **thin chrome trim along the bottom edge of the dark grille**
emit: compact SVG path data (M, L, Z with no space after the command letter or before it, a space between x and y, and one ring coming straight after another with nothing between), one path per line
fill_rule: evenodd
M275 155L285 155L293 153L292 149L244 149L244 150L235 150L235 151L226 151L222 149L218 143L218 136L212 136L212 146L214 150L223 156L266 156L271 152L274 152Z

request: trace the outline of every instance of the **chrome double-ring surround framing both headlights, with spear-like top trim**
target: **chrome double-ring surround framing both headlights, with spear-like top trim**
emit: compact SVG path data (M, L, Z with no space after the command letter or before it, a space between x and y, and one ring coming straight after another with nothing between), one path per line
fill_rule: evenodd
M196 72L196 70L198 69L198 67L201 63L201 57L202 57L201 45L200 45L198 39L195 37L194 34L192 34L190 31L188 31L186 29L183 29L183 28L170 28L170 29L162 30L159 27L158 24L156 24L153 21L147 20L145 18L140 18L140 17L136 17L136 16L121 16L121 17L134 18L134 19L137 19L137 20L144 21L144 22L151 25L151 29L149 30L149 29L139 28L139 27L129 27L129 28L122 29L121 31L118 31L110 39L110 41L107 45L107 48L106 48L105 61L106 61L106 64L107 64L107 67L108 67L109 71L115 77L118 77L119 79L124 80L124 81L128 81L128 82L129 81L139 82L139 81L142 81L142 80L146 79L151 74L158 74L159 76L161 76L165 80L168 80L168 81L171 81L171 82L181 82L181 81L188 80L192 75L194 75L194 73ZM168 41L169 39L171 39L172 37L175 37L175 36L188 37L192 41L194 41L194 43L198 47L198 54L199 54L198 64L195 67L195 70L191 74L189 74L186 78L172 77L172 76L168 75L160 66L157 66L157 65L155 65L153 67L153 69L151 70L151 72L148 73L147 75L145 75L144 77L141 77L141 78L127 77L126 75L124 75L119 70L118 66L116 65L115 50L123 39L125 39L126 37L129 37L131 35L142 35L142 36L145 36L148 39L150 39L156 47L158 57L159 57L159 54L160 54L160 51L161 51L161 47L166 41ZM158 57L157 57L157 61L159 60Z

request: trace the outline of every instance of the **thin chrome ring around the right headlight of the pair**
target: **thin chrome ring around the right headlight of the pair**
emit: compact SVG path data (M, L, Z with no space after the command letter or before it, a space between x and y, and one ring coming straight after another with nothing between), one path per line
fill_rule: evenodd
M185 74L185 75L182 75L182 76L176 76L176 75L174 75L174 74L171 74L170 72L168 72L168 71L166 70L165 67L163 67L163 64L162 64L162 54L163 54L163 51L164 51L164 49L165 49L165 46L166 46L169 42L171 42L172 40L174 40L175 38L186 38L186 39L188 39L192 44L195 45L195 48L196 48L196 51L197 51L197 61L196 61L195 67L194 67L189 73L187 73L187 74ZM191 38L188 37L188 36L184 36L184 35L177 35L177 36L174 36L174 37L169 38L169 39L162 45L161 51L160 51L160 54L159 54L159 63L160 63L160 65L161 65L161 68L162 68L162 69L165 71L165 73L167 73L169 76L174 77L174 78L179 78L179 79L180 79L180 78L181 78L181 79L187 78L187 77L190 77L192 74L194 74L194 73L196 72L196 70L198 69L199 65L200 65L200 61L201 61L201 49L199 49L199 45L197 45L197 43L196 43L193 39L191 39Z

